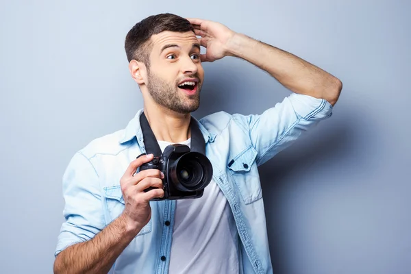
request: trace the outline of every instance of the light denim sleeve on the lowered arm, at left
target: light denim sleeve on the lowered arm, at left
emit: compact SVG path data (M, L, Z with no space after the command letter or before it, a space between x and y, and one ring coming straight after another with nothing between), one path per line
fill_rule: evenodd
M69 162L62 181L65 221L54 256L70 245L90 240L105 225L99 175L81 152L77 152Z

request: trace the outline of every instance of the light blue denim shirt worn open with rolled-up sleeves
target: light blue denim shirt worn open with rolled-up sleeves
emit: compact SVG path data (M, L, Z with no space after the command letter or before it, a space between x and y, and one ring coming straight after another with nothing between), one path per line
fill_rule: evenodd
M125 129L92 140L63 175L64 217L55 256L90 240L124 209L120 178L145 152L139 110ZM217 112L199 120L213 179L227 198L240 237L242 273L273 273L258 166L332 115L324 99L292 93L260 115ZM151 201L151 219L110 273L168 273L175 201ZM165 222L169 225L165 225Z

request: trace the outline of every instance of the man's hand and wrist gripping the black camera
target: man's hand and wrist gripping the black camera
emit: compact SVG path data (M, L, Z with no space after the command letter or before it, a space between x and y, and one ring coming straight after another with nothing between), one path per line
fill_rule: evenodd
M136 170L142 164L153 160L153 155L145 155L129 164L123 177L120 179L121 192L125 209L121 214L125 219L127 227L137 233L147 225L151 218L151 208L149 201L164 196L162 189L162 178L164 175L158 169L148 169L136 173ZM135 174L136 173L136 174ZM147 188L155 188L145 192Z

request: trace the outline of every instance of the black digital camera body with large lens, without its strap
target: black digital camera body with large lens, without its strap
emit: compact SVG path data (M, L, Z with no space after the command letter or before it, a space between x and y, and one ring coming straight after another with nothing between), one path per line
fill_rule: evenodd
M202 197L204 188L212 179L212 165L206 155L180 144L167 146L162 155L140 166L140 171L146 169L158 169L164 174L164 197L152 201ZM145 192L151 189L147 188Z

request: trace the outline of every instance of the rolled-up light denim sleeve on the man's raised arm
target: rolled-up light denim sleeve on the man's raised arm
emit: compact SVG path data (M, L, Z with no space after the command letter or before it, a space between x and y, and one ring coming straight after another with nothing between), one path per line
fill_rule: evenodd
M257 164L261 165L330 116L332 105L325 99L292 93L262 114L234 114L233 119L249 131Z

